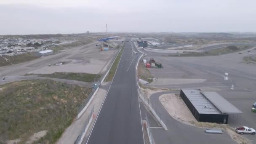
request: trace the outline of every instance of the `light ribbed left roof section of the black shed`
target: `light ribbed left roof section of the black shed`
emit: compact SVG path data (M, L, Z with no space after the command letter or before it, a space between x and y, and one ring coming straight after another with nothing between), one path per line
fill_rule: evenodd
M222 114L211 101L195 89L181 89L200 114Z

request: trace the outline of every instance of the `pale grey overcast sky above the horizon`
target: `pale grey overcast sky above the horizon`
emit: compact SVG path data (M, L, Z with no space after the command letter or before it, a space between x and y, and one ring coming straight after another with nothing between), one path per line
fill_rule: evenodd
M256 0L0 0L0 35L256 32Z

